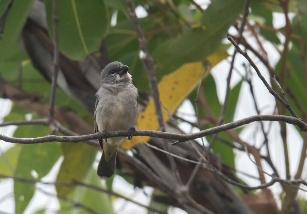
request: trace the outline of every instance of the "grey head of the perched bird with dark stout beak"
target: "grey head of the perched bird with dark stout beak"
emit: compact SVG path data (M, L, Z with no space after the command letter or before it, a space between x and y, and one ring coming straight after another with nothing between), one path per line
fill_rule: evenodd
M121 62L111 62L101 71L101 83L116 84L119 82L131 82L129 67Z

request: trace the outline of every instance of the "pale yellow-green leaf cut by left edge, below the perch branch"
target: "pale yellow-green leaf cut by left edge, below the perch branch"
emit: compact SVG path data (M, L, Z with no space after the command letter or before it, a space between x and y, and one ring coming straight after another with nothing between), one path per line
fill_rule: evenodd
M17 144L0 156L0 172L2 174L8 176L14 175L21 148L21 145Z

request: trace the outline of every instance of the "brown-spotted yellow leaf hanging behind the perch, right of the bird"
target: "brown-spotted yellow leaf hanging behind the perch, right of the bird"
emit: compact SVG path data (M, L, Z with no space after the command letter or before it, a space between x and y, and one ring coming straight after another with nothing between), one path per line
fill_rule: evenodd
M211 66L227 57L227 52L219 49L215 53L209 55L206 60L210 61ZM185 63L176 71L165 75L158 84L160 92L160 100L166 109L171 114L179 107L182 101L192 92L192 90L199 84L200 78L204 73L204 66L201 61L193 63ZM163 120L169 120L167 112L162 108ZM158 130L159 125L156 117L153 99L150 98L148 105L138 113L136 119L137 129ZM142 136L144 141L148 141L150 137ZM122 149L131 149L134 145L142 143L139 137L133 137L131 141L126 139L122 144Z

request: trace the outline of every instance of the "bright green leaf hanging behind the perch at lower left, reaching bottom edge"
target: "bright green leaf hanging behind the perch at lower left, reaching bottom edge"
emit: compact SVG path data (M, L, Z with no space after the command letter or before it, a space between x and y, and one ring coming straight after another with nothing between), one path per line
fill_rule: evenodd
M50 133L49 128L40 125L19 126L14 137L39 137ZM61 155L60 144L40 143L21 145L20 155L14 173L15 177L33 179L32 170L37 173L37 179L45 176ZM34 184L14 182L15 212L22 213L35 191Z

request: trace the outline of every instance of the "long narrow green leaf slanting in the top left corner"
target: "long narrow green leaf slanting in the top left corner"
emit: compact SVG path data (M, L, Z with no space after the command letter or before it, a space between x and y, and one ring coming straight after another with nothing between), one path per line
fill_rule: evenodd
M34 0L15 0L6 19L0 45L0 61L10 58Z

